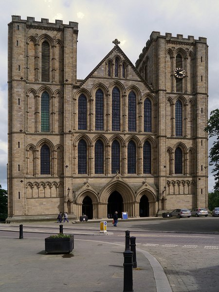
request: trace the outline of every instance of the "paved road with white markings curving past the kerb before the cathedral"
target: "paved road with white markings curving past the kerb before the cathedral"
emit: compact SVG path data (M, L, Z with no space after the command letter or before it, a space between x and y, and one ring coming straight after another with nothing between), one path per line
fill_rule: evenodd
M219 292L219 218L126 221L116 228L108 226L107 237L99 236L99 223L94 222L66 224L64 230L77 234L76 239L92 235L92 240L120 244L125 243L124 231L130 230L137 248L160 262L173 292ZM45 225L44 232L51 227L50 232L54 232L58 224Z

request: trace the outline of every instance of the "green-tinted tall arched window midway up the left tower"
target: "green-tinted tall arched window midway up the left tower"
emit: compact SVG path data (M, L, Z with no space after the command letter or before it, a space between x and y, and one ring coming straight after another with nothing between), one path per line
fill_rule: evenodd
M45 91L41 96L41 132L50 130L50 97Z

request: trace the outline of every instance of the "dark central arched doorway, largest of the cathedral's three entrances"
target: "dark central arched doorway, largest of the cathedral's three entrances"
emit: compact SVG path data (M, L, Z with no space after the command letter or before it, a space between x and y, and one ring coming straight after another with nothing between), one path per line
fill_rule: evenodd
M108 199L107 217L112 218L115 211L118 212L118 217L122 217L123 212L123 198L119 192L114 191Z

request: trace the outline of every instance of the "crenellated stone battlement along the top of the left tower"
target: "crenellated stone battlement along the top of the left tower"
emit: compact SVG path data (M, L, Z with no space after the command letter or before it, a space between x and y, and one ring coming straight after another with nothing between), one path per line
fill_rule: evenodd
M69 24L63 24L63 20L58 20L55 19L55 23L53 22L49 22L48 18L41 18L41 21L36 21L34 17L27 17L27 20L25 19L21 19L20 16L18 15L13 15L12 16L12 22L22 22L22 23L26 23L26 25L28 26L47 26L47 27L53 27L53 28L64 28L66 26L72 27L75 30L78 30L78 22L73 22L73 21L69 21Z

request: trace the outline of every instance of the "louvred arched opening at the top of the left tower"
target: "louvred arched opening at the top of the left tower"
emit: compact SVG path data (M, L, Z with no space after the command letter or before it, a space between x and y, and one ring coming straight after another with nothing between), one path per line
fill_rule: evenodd
M44 40L42 42L41 52L41 80L42 82L50 81L50 45Z

